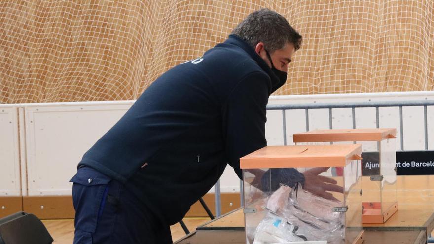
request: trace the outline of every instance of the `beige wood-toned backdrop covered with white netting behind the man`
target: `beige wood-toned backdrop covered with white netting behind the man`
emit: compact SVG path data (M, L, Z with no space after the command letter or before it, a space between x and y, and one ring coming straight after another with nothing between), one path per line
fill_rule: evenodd
M433 89L434 0L1 1L0 103L136 99L261 7L304 38L275 94Z

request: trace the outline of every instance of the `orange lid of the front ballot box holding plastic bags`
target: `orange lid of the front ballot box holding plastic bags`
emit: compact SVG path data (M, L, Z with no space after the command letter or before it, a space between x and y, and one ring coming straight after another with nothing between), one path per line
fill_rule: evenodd
M240 158L241 169L340 167L362 159L362 145L266 146Z

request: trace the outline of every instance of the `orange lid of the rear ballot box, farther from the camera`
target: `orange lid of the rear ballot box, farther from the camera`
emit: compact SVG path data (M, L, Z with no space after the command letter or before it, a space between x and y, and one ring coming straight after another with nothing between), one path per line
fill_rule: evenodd
M333 142L333 141L381 141L396 138L397 129L344 129L316 130L294 134L293 140L298 142Z

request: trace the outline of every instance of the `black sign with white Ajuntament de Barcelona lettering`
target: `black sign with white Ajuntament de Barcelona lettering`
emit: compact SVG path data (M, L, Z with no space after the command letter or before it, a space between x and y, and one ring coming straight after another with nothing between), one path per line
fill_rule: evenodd
M362 153L362 175L380 174L378 152ZM434 151L397 152L397 175L434 174Z

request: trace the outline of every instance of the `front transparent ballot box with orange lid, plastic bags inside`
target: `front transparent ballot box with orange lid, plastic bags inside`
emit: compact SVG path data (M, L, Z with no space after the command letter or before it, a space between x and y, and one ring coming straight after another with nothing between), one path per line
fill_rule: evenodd
M362 243L361 153L359 144L266 146L241 158L246 243Z

